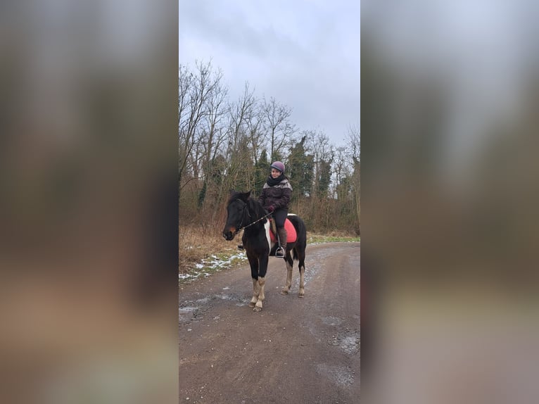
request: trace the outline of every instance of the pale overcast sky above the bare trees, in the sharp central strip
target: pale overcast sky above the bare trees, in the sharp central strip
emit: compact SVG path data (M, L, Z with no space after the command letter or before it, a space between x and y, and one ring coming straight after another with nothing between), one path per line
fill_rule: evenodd
M222 70L231 101L248 82L336 146L360 125L360 1L179 0L179 63L195 61Z

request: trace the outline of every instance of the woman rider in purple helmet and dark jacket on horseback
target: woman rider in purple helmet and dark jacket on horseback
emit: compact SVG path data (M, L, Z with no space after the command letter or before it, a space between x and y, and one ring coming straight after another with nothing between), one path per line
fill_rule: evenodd
M272 172L267 177L264 187L262 187L262 194L258 197L258 201L268 212L273 213L277 234L279 235L279 248L275 251L275 256L284 258L287 236L284 220L288 215L288 203L292 194L292 186L284 175L283 163L275 161L270 167Z

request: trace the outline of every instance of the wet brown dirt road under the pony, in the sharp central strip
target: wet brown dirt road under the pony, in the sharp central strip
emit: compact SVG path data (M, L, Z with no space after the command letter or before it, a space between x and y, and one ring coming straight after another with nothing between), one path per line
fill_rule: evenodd
M307 246L305 298L270 258L260 313L248 264L179 289L179 403L359 403L360 244Z

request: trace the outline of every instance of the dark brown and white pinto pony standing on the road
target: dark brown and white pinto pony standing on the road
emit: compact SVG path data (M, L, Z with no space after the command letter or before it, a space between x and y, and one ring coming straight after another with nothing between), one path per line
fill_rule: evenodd
M270 222L262 204L250 197L251 191L230 191L227 202L227 222L224 225L222 235L227 241L232 241L234 236L243 229L243 248L245 248L249 265L251 266L251 278L253 278L253 298L249 307L253 311L262 310L262 302L265 299L264 286L267 272L267 263L270 255L274 255L277 243L270 237ZM296 229L296 241L288 241L284 260L286 262L286 284L281 294L287 295L292 284L292 269L294 260L298 260L300 271L300 289L298 296L305 296L305 247L307 246L307 230L305 223L297 215L288 214L288 218ZM293 255L291 255L293 253ZM280 258L279 258L280 259Z

